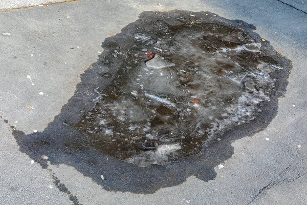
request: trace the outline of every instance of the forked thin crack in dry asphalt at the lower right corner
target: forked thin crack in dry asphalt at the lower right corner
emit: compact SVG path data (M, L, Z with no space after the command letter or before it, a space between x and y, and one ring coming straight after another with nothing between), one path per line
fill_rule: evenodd
M262 193L266 192L267 190L269 190L269 189L271 189L271 188L273 188L273 187L275 187L275 186L277 186L277 185L280 185L280 184L282 184L282 183L284 183L284 182L293 182L293 181L299 179L300 177L304 176L305 174L307 174L307 171L306 171L306 172L304 172L304 173L302 173L302 174L301 174L301 173L298 173L298 175L297 175L295 178L293 178L293 179L291 179L291 178L284 178L284 179L282 179L282 180L279 180L279 177L280 177L281 175L287 173L287 172L288 172L288 169L289 169L291 166L292 166L292 165L289 165L287 168L283 169L283 170L280 172L280 174L277 176L277 180L271 181L267 186L262 187L262 188L258 191L258 193L252 198L252 200L251 200L250 202L247 203L247 205L250 205L254 200L256 200L260 195L262 195Z

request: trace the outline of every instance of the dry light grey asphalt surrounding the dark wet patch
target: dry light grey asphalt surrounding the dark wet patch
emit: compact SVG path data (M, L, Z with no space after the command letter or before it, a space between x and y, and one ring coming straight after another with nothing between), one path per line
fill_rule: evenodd
M191 176L155 194L107 192L67 165L41 169L18 151L10 126L1 121L0 204L72 204L70 195L55 187L53 174L82 204L307 204L307 2L302 2L94 0L1 11L0 115L26 134L47 127L102 52L104 38L143 11L210 11L244 20L292 60L293 69L277 116L265 131L232 143L234 154L223 169L215 168L214 180Z

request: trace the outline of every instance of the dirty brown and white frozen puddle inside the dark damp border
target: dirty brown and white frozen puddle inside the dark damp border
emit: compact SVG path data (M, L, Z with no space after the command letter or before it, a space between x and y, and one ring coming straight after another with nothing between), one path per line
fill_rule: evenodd
M270 100L279 67L261 42L202 18L172 20L153 17L105 40L102 77L113 83L95 89L95 107L75 125L88 146L141 167L165 165L248 123Z

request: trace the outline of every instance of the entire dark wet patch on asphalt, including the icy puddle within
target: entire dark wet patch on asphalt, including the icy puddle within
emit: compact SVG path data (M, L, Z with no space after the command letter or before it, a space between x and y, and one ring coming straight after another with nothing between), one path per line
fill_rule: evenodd
M104 40L43 132L13 130L20 150L108 191L214 179L231 142L264 130L286 91L290 61L254 29L210 12L143 12Z

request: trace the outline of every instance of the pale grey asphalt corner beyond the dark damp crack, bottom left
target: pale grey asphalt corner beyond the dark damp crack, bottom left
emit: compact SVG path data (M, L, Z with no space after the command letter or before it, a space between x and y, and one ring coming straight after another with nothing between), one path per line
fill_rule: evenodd
M6 124L0 125L0 204L67 204L48 171L20 153Z

